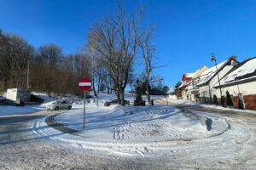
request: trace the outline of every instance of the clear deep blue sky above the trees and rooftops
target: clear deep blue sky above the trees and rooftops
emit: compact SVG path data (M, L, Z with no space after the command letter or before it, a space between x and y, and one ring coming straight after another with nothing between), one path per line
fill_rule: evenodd
M157 70L169 87L183 73L211 67L231 55L241 61L256 56L256 1L124 0L125 8L144 4L145 22L156 24ZM64 54L83 48L90 24L113 13L116 0L0 0L0 28L17 33L34 47L49 42Z

